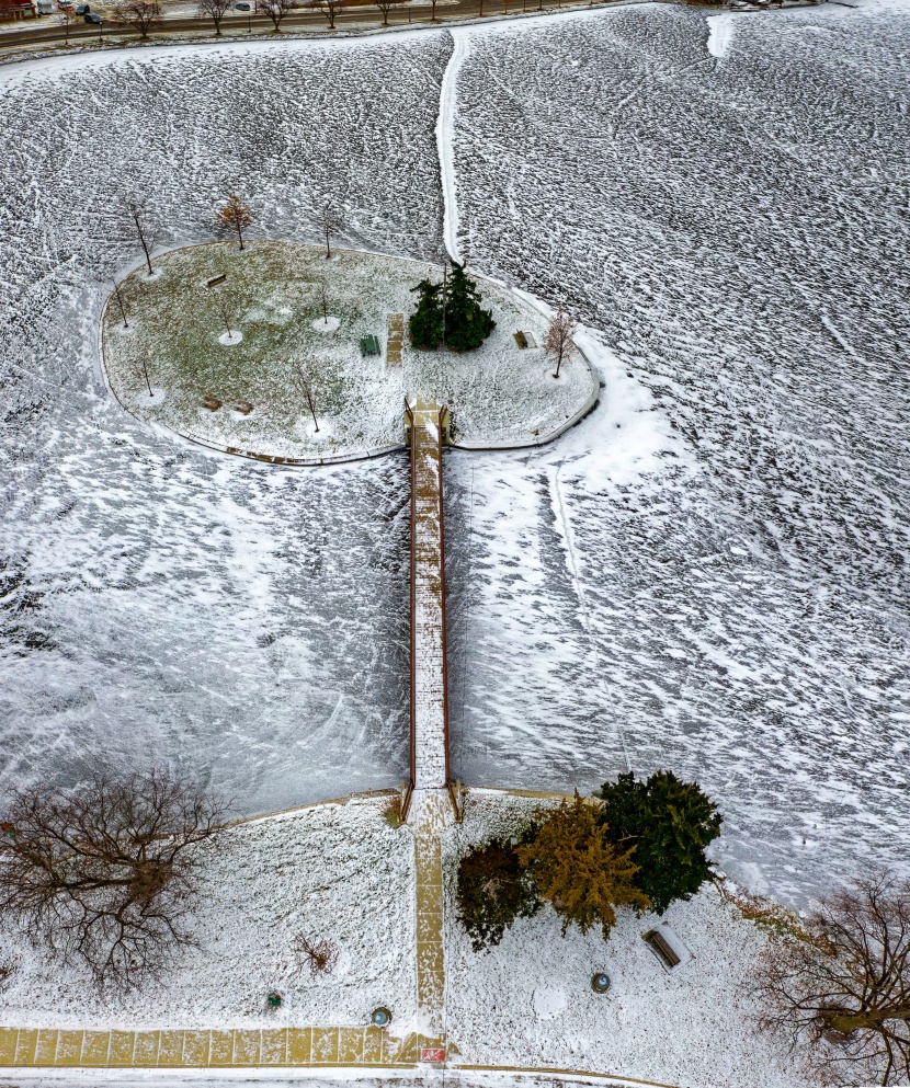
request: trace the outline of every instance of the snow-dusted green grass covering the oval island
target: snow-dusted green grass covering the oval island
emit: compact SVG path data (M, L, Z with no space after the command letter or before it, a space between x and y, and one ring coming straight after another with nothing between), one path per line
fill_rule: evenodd
M221 275L225 283L206 287ZM327 260L322 248L299 243L175 250L157 259L152 277L144 265L121 285L132 334L116 298L109 300L107 377L139 419L271 457L355 456L400 445L406 394L447 404L458 439L468 443L533 442L584 404L594 381L587 362L571 360L554 381L546 354L520 350L513 336L522 330L543 342L539 309L487 280L480 291L496 329L479 348L417 351L406 335L401 364L387 364L388 314L407 320L412 289L425 278L441 282L442 268L344 249ZM361 354L361 339L371 334L380 355ZM147 370L164 398L150 401ZM206 397L220 406L205 408ZM243 414L238 404L253 409Z

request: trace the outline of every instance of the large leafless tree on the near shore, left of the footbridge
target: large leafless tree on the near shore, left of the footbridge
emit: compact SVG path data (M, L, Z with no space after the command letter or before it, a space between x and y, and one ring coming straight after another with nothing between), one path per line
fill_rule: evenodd
M99 986L126 988L158 974L198 890L200 850L226 809L167 771L107 777L76 791L13 791L0 838L0 911Z

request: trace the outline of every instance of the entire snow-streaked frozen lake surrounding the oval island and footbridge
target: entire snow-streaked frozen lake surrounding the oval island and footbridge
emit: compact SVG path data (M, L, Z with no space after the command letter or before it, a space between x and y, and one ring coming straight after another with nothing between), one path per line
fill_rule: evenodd
M714 53L670 5L458 33L459 249L614 354L554 446L446 458L455 771L673 767L721 803L729 871L786 900L902 863L906 5L733 16ZM157 756L254 812L403 774L403 459L180 446L105 397L95 323L137 255L126 190L162 244L217 237L229 188L315 240L332 192L346 244L440 260L451 53L0 72L7 781Z

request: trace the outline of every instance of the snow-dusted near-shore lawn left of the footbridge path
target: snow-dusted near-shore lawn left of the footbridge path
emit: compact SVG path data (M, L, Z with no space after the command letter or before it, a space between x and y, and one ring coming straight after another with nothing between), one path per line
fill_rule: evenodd
M365 1024L377 1005L414 1016L413 841L383 818L387 797L353 799L221 833L204 868L194 936L157 984L99 996L78 967L31 948L9 919L0 1023L155 1028ZM339 949L314 978L295 940ZM265 998L283 1003L271 1010Z

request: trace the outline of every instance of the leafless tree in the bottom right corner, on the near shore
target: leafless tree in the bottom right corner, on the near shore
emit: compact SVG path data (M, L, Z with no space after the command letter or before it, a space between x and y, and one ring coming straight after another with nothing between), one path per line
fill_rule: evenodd
M839 1085L910 1078L910 884L884 873L826 897L772 940L757 984L761 1022L808 1039Z

